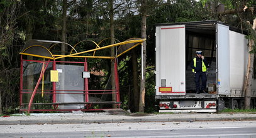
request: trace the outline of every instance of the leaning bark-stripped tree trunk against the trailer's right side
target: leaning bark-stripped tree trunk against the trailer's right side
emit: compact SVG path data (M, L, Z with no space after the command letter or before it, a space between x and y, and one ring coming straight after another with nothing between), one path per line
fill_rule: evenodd
M255 30L256 18L253 20L252 29ZM253 50L254 40L249 40L249 51ZM249 53L248 55L248 66L247 66L247 76L245 80L245 109L250 109L250 98L252 91L252 75L253 75L253 61L254 53Z

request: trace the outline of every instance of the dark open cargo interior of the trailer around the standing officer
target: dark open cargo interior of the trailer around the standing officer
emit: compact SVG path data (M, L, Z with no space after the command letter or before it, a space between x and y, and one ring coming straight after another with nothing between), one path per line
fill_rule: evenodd
M186 93L195 93L191 61L202 50L209 64L206 91L216 93L216 23L186 24Z

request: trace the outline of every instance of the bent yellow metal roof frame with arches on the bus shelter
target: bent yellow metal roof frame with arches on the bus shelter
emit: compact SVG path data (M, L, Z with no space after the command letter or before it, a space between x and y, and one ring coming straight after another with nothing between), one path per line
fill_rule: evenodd
M110 38L106 38L104 40L107 40L107 39L110 39ZM127 51L130 51L131 49L135 48L136 46L138 45L142 45L143 41L146 41L146 39L141 39L141 38L130 38L129 40L126 40L126 41L123 41L123 42L120 42L120 43L115 43L113 45L108 45L108 46L103 46L103 47L100 47L99 44L101 44L104 40L100 41L98 44L92 40L83 40L83 41L91 41L92 43L94 43L96 45L96 48L92 49L92 50L86 50L86 51L82 51L82 52L79 52L79 53L73 53L72 54L72 51L75 50L75 46L77 46L79 43L82 43L83 41L80 41L79 43L75 44L74 46L71 46L69 44L69 46L72 47L72 50L70 51L70 55L53 55L52 52L50 51L50 49L59 44L59 43L56 43L54 45L52 45L49 50L47 48L45 48L44 46L41 46L41 45L33 45L33 46L41 46L42 48L45 48L52 57L48 57L48 56L40 56L40 55L34 55L34 54L29 54L29 53L25 53L26 50L28 50L29 48L33 47L33 46L29 46L28 48L26 48L25 50L23 50L23 52L21 52L20 54L21 55L28 55L28 56L36 56L36 57L39 57L39 58L47 58L47 59L51 59L51 60L57 60L57 59L60 59L60 58L67 58L67 57L72 57L72 58L104 58L104 59L113 59L113 58L118 58L119 56L123 55L124 53L126 53ZM131 48L128 48L128 50L125 50L123 51L122 53L120 53L119 55L116 55L116 56L94 56L95 55L95 52L97 50L104 50L106 48L111 48L111 47L114 47L114 46L121 46L121 45L126 45L126 44L130 44L130 43L135 43L135 45L131 46ZM93 56L79 56L83 53L89 53L89 52L94 52Z

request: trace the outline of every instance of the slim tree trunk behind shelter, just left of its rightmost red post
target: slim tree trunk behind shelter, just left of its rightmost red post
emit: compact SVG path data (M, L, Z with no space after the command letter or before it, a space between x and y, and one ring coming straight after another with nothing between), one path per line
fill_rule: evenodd
M114 9L113 0L109 0L109 20L110 20L110 37L111 45L114 44ZM110 56L114 56L114 47L110 49ZM114 60L111 60L111 88L116 90L116 85L114 81ZM116 101L116 93L112 94L112 101ZM116 105L113 105L113 109L116 109Z

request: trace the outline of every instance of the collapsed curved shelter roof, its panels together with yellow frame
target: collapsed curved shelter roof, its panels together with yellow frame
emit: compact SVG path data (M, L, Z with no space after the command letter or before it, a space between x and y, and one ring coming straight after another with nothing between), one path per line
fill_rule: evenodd
M72 45L69 45L68 43L64 43L64 42L61 42L61 41L30 40L23 47L23 50L21 51L20 54L21 55L36 56L36 57L39 57L39 58L48 58L48 59L52 59L52 60L57 60L59 58L67 58L67 57L108 58L108 59L112 59L112 58L117 58L117 57L123 55L124 53L126 53L127 51L130 51L131 49L135 48L138 45L142 45L143 41L145 41L145 40L146 39L131 38L129 40L126 40L126 41L123 41L123 42L120 42L120 43L115 43L113 45L102 46L102 47L99 46L99 44L102 41L100 41L99 43L96 43L96 42L91 41L91 40L83 40L83 41L91 41L95 45L95 48L91 49L91 50L81 51L79 53L77 53L77 51L75 50L75 46L77 46L82 41L80 41L79 43L72 46ZM69 45L72 48L72 50L70 51L70 54L69 55L53 55L51 50L52 50L53 46L55 46L57 44ZM117 50L117 53L114 57L113 56L94 56L96 51L104 50L104 49L111 48L111 47L116 47L116 46L118 46L118 50ZM92 56L82 56L83 53L90 53L90 52L94 52Z

